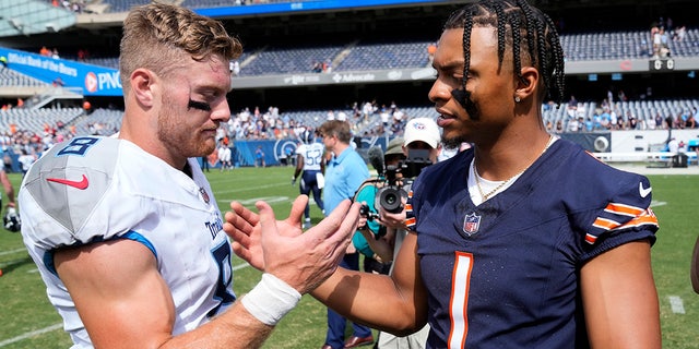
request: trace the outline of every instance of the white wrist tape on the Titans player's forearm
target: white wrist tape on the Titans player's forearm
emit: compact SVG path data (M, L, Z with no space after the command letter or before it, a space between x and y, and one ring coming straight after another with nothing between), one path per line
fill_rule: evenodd
M250 315L274 326L296 306L301 293L272 274L262 274L262 280L240 302Z

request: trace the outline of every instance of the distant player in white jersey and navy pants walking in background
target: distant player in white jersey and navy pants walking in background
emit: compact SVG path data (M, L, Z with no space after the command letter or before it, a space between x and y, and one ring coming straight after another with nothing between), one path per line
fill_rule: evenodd
M303 143L296 148L296 169L292 178L292 185L296 183L296 179L300 174L301 181L298 184L300 193L306 196L312 193L316 205L324 215L325 209L320 191L323 189L324 182L325 161L323 160L323 153L325 148L321 143L316 142L311 130L306 130L301 133L301 141ZM310 204L306 205L304 217L304 229L308 229L310 228Z

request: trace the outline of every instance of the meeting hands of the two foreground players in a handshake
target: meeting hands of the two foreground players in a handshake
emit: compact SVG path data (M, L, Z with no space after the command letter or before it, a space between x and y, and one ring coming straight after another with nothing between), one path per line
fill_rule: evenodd
M259 214L233 202L224 224L238 256L284 280L301 294L334 273L356 230L360 206L345 200L330 216L303 232L300 219L307 203L308 196L300 195L289 217L276 220L265 202L256 203Z

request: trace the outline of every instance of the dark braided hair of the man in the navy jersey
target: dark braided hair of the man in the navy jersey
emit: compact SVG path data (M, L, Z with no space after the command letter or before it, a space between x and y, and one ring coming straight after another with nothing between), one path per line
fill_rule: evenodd
M522 57L529 58L530 64L538 69L543 77L545 92L559 104L564 101L564 50L556 26L548 15L524 0L481 0L452 13L443 29L464 29L464 91L471 63L471 31L474 26L497 28L499 63L502 64L506 45L510 45L517 75L523 79Z

